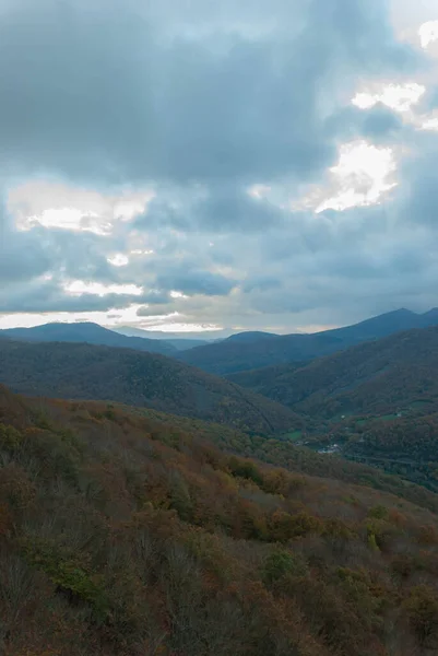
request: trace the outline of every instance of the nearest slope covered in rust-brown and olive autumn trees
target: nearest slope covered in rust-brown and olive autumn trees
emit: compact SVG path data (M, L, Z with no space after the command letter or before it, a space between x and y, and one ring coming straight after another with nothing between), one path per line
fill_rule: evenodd
M0 388L8 656L421 656L438 518L103 403Z

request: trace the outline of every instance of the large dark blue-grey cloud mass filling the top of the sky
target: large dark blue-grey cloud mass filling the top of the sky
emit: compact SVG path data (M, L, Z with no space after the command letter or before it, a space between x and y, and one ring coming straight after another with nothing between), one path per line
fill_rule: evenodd
M154 4L10 4L0 23L10 169L87 183L308 179L335 154L324 117L338 109L336 92L353 77L415 63L379 0L258 3L246 31L229 4L222 21L213 12L180 33L179 0L166 12ZM205 4L214 5L192 3ZM269 30L276 10L279 23L298 28Z

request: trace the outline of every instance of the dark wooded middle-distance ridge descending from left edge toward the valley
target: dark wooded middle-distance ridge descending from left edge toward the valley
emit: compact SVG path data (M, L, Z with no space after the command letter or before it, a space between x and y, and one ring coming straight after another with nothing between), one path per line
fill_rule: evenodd
M289 409L170 358L91 344L0 340L0 383L28 395L104 399L273 434Z

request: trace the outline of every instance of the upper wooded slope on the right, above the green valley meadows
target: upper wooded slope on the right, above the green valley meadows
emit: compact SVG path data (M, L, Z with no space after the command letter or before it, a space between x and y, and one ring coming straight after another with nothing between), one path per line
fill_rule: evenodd
M384 413L438 402L438 328L365 342L300 368L270 367L253 375L261 394L301 412L333 418ZM273 375L274 374L274 375ZM240 378L242 384L250 382ZM252 385L251 385L252 387Z

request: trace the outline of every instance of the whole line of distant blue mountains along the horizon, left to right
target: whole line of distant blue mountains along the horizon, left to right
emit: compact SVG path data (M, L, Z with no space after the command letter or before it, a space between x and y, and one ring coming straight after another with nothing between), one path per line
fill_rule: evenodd
M315 333L275 335L246 331L211 341L175 338L138 328L115 330L93 323L46 324L34 328L0 330L0 338L24 341L84 342L119 347L170 355L209 373L227 375L287 362L309 362L367 340L379 339L400 330L425 328L438 324L438 309L424 314L399 309L353 326ZM123 333L122 333L123 332ZM155 335L159 339L149 336Z

